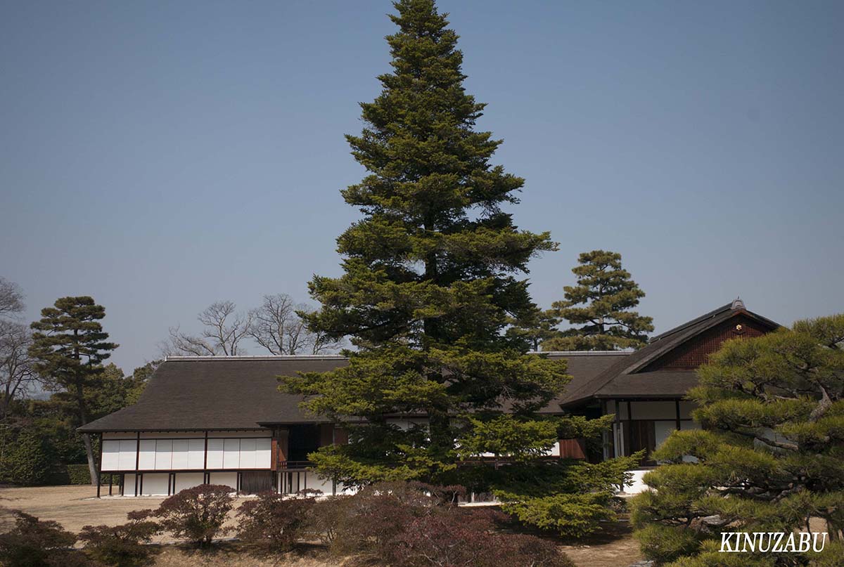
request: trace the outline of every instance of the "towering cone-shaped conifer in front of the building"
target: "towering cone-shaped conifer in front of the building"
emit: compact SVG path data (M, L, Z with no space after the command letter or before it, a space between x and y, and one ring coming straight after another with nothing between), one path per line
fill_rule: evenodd
M392 73L360 105L363 132L347 136L369 175L342 193L363 218L338 238L344 274L311 280L322 309L306 315L311 331L357 349L344 368L281 380L309 396L307 410L347 424L348 445L310 455L330 478L500 488L542 467L565 422L538 413L569 381L565 362L526 354L505 332L536 309L518 274L556 245L503 210L523 180L490 163L500 140L474 129L484 105L463 88L446 14L431 0L394 5Z

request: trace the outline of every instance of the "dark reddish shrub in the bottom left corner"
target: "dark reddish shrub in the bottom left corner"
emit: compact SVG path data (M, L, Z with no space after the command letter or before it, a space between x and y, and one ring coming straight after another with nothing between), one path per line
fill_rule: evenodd
M84 556L73 549L77 537L57 521L41 521L12 510L14 528L0 534L0 564L4 567L74 567Z

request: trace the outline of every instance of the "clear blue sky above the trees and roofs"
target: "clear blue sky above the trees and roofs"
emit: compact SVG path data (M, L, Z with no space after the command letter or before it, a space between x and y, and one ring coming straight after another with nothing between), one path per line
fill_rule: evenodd
M844 311L844 3L441 2L526 178L548 306L620 251L657 331ZM131 371L214 300L339 273L388 2L0 3L0 275L106 306ZM252 352L258 354L257 348Z

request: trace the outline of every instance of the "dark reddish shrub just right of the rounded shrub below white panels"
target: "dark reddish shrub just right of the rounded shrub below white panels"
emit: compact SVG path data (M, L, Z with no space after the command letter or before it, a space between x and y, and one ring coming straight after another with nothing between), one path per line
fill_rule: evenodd
M237 536L246 545L264 552L282 553L306 531L309 511L314 505L310 494L285 498L266 492L248 500L237 511L240 527Z

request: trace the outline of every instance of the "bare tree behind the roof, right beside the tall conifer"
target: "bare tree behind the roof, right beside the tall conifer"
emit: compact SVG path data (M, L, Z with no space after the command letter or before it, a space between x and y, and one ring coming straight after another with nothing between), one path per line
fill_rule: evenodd
M288 294L264 295L262 305L250 311L249 334L270 354L321 354L337 348L338 341L308 330L299 316L307 311Z

